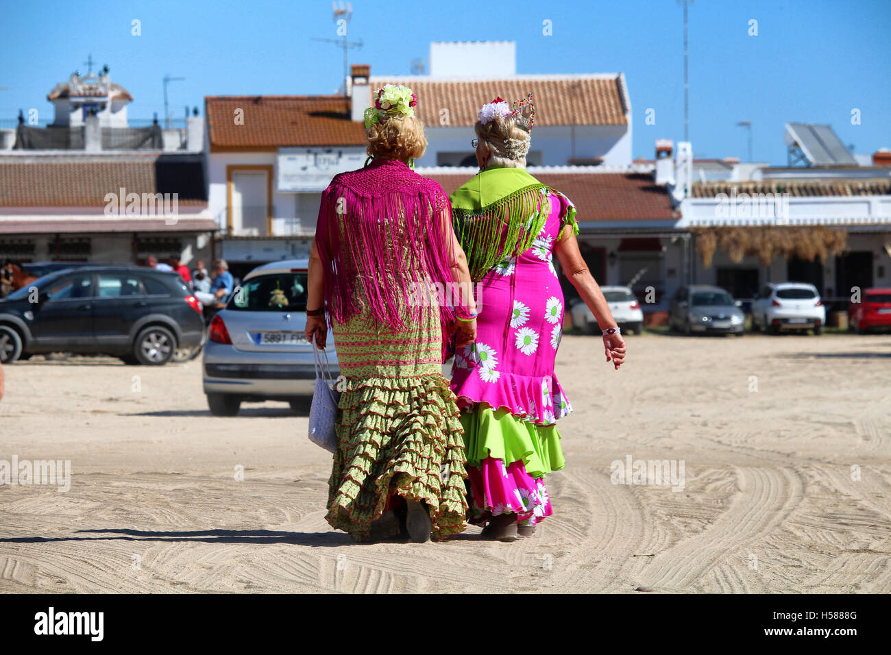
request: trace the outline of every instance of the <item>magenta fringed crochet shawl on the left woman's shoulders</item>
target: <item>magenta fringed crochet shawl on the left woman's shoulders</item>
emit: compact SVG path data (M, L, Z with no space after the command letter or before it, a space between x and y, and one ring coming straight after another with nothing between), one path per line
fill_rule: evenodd
M453 281L451 221L442 187L401 161L374 160L335 176L315 228L328 315L339 323L356 315L359 285L375 319L404 330L407 307L416 323L421 285ZM444 329L453 319L441 307Z

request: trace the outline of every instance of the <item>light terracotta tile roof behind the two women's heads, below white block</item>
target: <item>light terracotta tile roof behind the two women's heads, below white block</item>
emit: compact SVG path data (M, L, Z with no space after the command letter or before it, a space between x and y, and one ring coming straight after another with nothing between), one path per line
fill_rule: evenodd
M479 108L496 96L508 102L535 94L535 125L627 125L625 77L548 78L519 76L494 80L426 81L422 78L370 79L373 90L386 84L411 86L417 115L425 126L439 127L443 109L451 127L473 126Z

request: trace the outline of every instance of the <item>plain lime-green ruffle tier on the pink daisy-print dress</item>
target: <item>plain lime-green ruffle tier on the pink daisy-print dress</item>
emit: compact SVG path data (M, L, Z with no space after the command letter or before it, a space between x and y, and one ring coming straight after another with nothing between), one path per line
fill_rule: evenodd
M461 424L468 466L478 466L486 457L505 465L521 461L526 472L538 479L560 471L566 463L556 425L536 425L506 408L494 410L487 405L462 413Z

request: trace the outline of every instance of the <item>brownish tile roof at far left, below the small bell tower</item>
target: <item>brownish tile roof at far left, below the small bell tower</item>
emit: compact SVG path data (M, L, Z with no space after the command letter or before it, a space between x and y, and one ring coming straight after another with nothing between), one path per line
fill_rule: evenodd
M105 194L178 193L178 205L206 206L200 155L0 157L0 207L104 207Z

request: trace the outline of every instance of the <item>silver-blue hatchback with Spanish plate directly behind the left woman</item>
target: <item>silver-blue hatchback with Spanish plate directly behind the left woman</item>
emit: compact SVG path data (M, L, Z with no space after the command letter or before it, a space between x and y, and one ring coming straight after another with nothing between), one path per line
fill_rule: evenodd
M208 326L203 381L210 412L234 416L243 402L282 400L296 408L315 389L307 341L307 259L257 266ZM325 352L339 375L329 328Z

